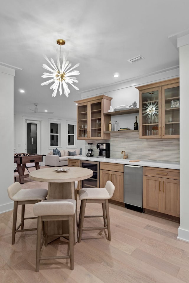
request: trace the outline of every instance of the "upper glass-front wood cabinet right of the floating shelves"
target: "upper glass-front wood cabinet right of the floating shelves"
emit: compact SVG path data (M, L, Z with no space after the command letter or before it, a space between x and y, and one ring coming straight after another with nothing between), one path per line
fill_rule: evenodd
M136 87L140 139L179 138L179 78Z

